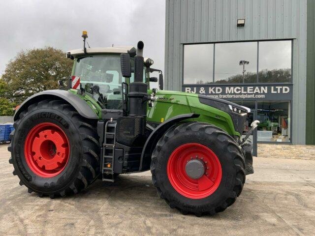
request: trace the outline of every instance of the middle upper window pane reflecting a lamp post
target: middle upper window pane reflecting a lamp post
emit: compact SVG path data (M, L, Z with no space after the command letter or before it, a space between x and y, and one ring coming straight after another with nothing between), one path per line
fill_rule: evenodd
M256 82L257 42L216 43L215 83Z

